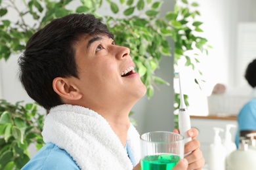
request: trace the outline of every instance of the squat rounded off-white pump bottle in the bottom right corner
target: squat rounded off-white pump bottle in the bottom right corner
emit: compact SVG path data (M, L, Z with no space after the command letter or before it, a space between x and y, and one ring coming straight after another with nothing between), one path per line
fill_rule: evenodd
M256 169L256 152L248 148L246 140L240 140L238 150L228 156L228 167L230 170Z

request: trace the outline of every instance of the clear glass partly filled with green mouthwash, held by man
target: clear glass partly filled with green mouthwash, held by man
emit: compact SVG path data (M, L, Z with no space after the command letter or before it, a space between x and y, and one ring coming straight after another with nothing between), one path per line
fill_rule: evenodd
M184 137L169 131L140 135L141 170L170 170L184 157Z

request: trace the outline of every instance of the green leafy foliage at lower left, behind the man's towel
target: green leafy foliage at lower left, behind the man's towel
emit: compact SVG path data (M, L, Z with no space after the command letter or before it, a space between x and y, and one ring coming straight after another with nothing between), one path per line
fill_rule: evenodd
M44 116L35 103L12 105L0 100L0 169L21 169L30 160L28 146L43 146Z

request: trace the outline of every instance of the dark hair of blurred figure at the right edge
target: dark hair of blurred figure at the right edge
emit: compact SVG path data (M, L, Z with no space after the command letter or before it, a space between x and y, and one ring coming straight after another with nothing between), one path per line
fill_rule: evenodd
M256 86L256 59L253 59L245 71L245 79L253 88Z

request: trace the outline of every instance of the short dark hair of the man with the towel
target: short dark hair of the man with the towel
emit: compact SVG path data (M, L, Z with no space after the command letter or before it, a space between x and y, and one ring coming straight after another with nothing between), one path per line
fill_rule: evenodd
M107 35L114 39L106 25L95 16L70 14L37 31L18 60L20 82L28 95L45 109L62 104L53 90L54 78L78 78L74 46L81 35Z

